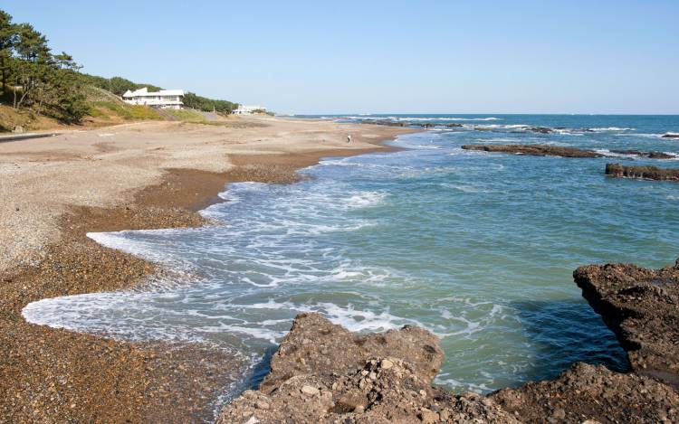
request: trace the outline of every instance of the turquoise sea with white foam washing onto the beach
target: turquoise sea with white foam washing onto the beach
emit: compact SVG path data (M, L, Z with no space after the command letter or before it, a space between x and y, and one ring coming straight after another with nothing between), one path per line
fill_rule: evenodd
M403 150L332 158L291 185L231 184L220 226L91 234L167 265L147 287L35 302L31 322L131 340L214 344L262 360L303 311L353 331L422 325L442 338L437 382L492 391L575 361L627 366L572 272L679 256L679 184L615 179L607 162L466 151L533 143L679 154L679 117L397 116L460 123L399 137ZM522 126L556 128L535 134ZM256 378L256 376L255 376Z

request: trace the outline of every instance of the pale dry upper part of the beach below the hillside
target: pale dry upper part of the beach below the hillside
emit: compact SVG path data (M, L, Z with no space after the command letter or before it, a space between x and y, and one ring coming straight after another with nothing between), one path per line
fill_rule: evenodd
M403 129L330 121L231 118L224 126L145 122L0 144L0 273L42 259L71 206L110 207L167 169L225 173L232 155L342 154ZM347 135L352 142L347 143Z

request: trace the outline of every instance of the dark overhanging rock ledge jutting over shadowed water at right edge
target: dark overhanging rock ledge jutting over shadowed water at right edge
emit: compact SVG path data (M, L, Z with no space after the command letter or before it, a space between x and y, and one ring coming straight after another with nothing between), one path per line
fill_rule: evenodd
M679 265L588 265L573 277L617 335L635 372L679 388Z

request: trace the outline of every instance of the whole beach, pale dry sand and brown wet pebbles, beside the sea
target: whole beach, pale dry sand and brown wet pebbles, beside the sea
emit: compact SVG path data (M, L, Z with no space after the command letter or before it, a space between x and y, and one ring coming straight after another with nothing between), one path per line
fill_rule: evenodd
M285 118L142 122L0 144L2 422L187 422L211 416L231 358L25 323L34 300L132 287L153 264L88 231L201 225L228 182L290 183L328 155L412 131ZM352 141L347 143L347 136ZM209 360L208 360L209 358Z

